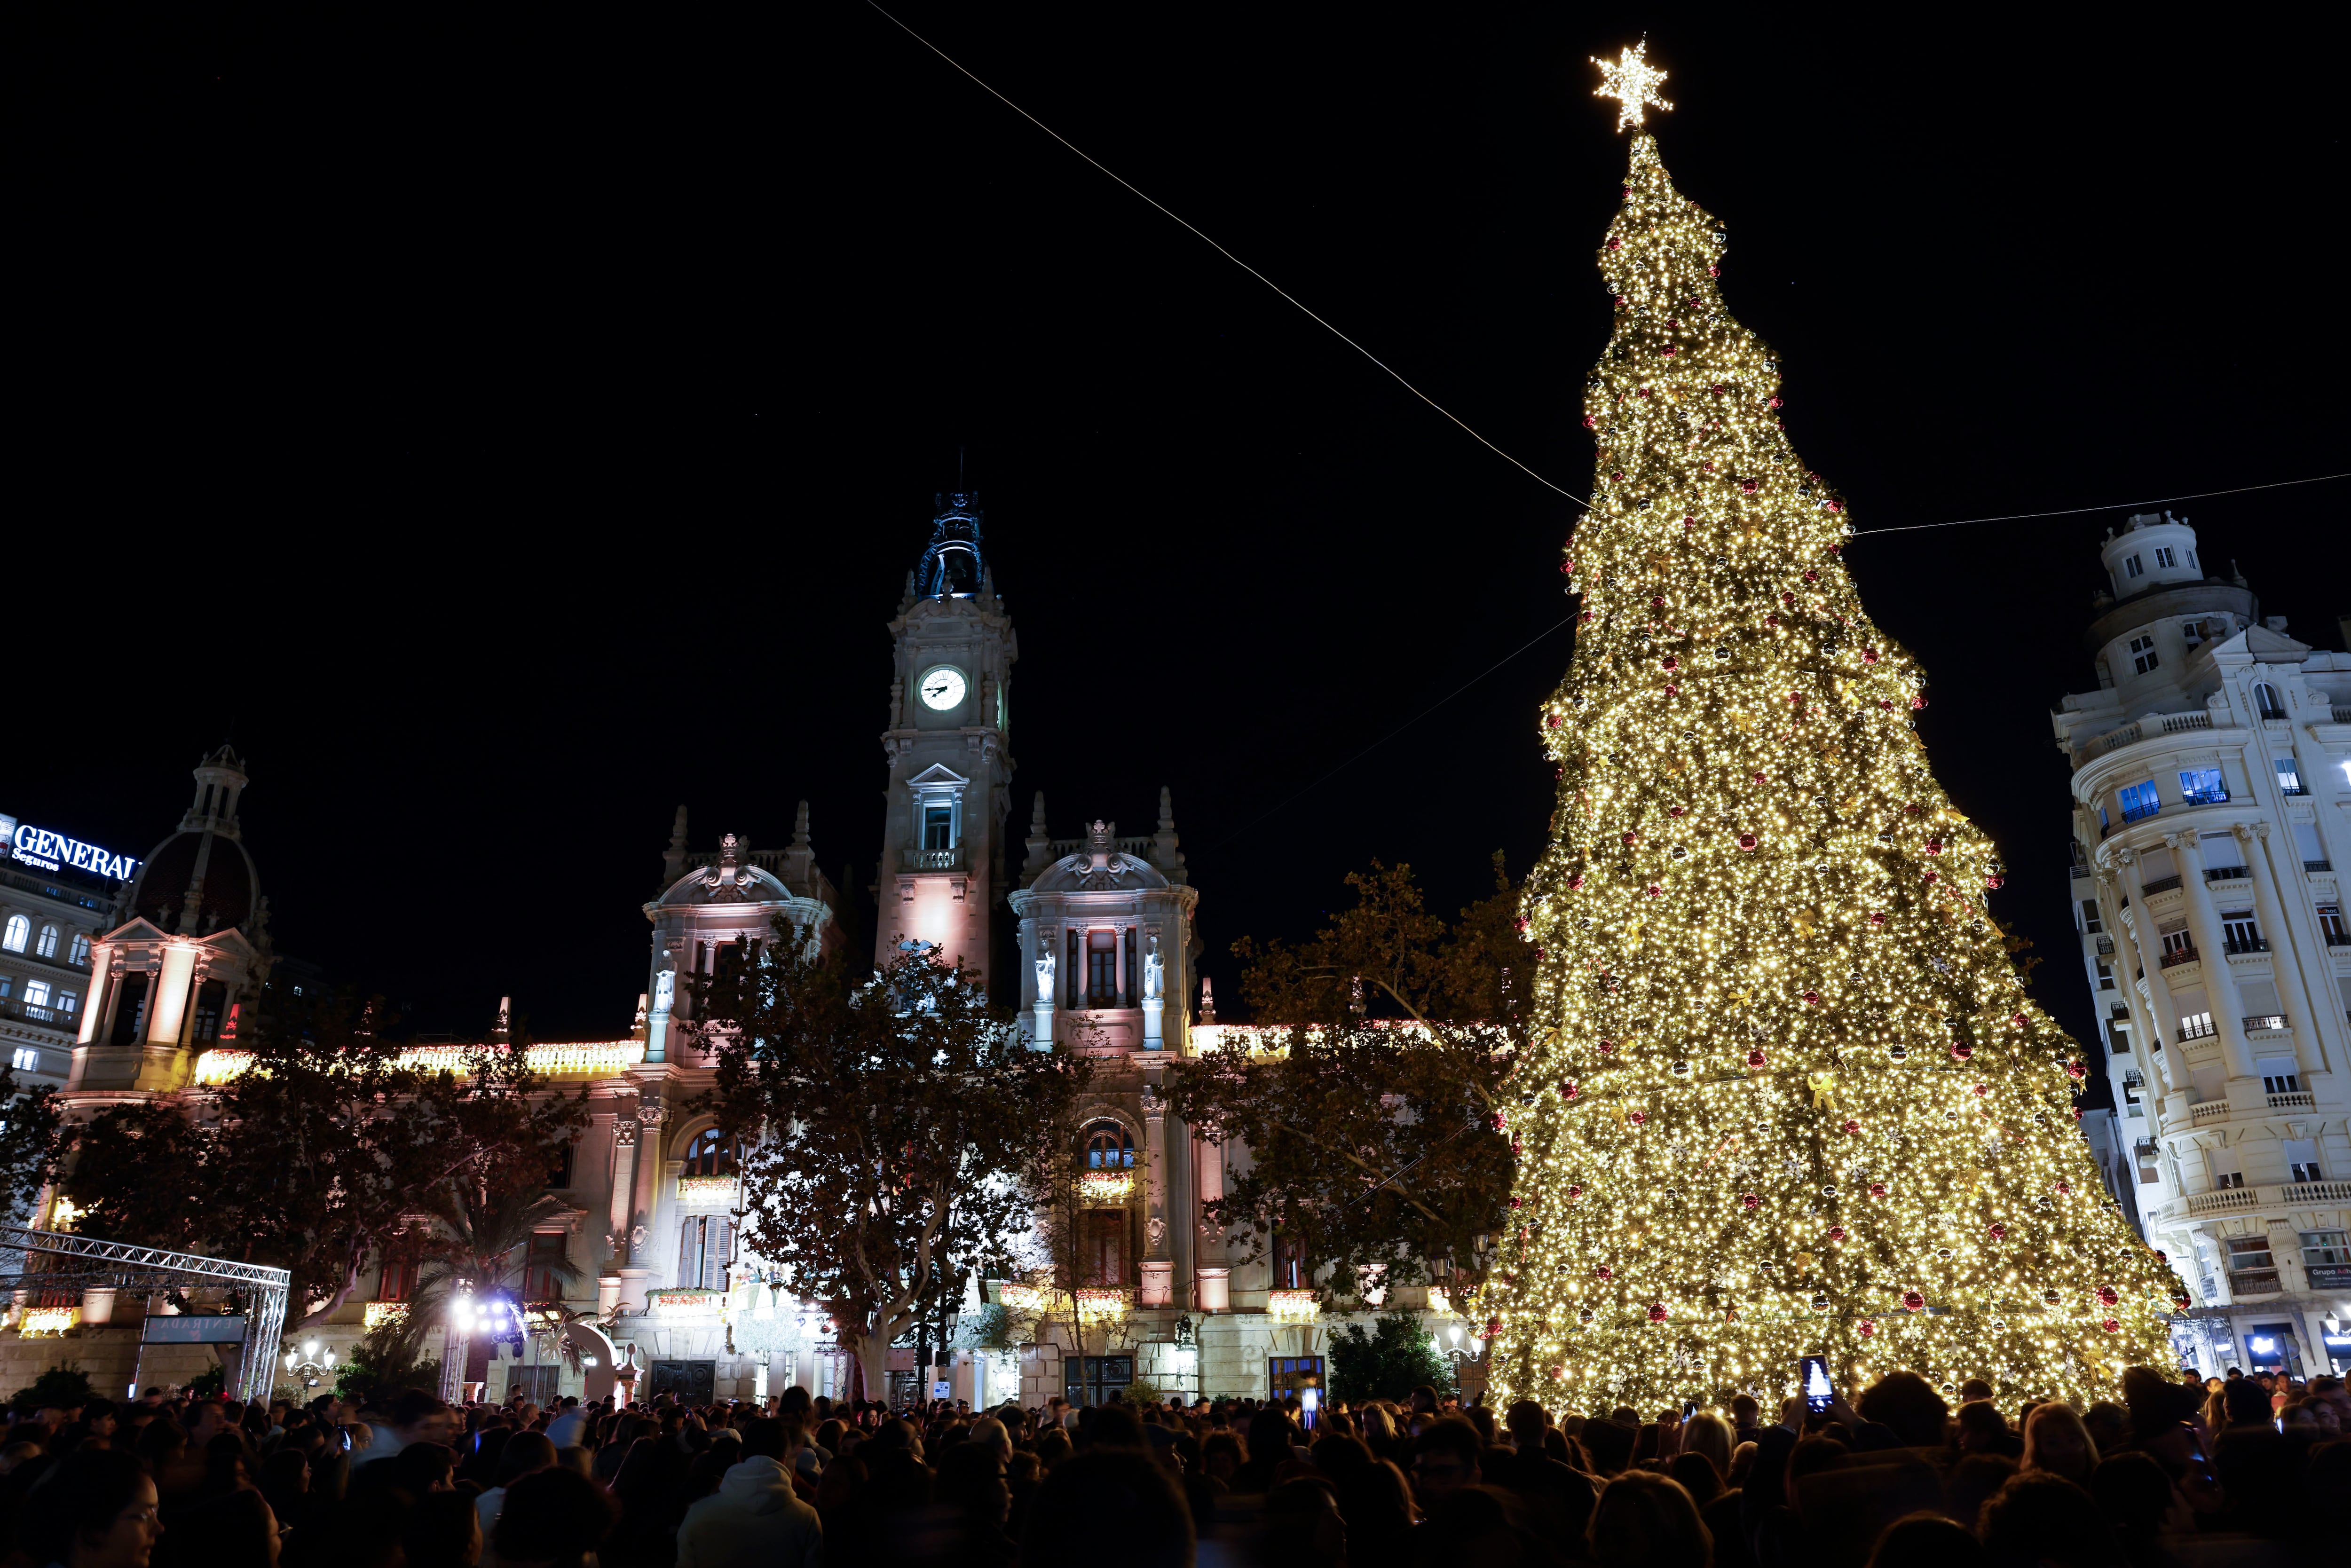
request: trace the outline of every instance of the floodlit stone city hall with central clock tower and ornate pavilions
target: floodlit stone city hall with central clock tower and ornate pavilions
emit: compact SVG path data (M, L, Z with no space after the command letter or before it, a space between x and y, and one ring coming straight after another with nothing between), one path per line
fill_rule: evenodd
M1201 1143L1159 1095L1171 1060L1237 1034L1197 1006L1201 891L1190 882L1168 792L1159 790L1150 832L1119 832L1098 816L1060 837L1044 797L1032 795L1027 832L1013 837L1009 693L1018 639L980 522L971 496L943 498L889 623L893 665L879 693L889 790L870 959L886 964L903 940L936 943L992 990L1018 994L1032 1044L1098 1058L1079 1131L1089 1166L1086 1345L1039 1324L994 1345L966 1342L924 1368L900 1347L889 1394L947 1385L973 1403L1034 1406L1053 1394L1100 1401L1138 1382L1187 1396L1310 1387L1328 1331L1312 1279L1295 1260L1277 1272L1270 1258L1239 1255L1220 1227L1201 1222L1201 1204L1223 1194L1248 1152ZM195 780L186 818L139 870L120 919L92 931L87 1004L71 1034L66 1100L75 1112L160 1095L200 1114L207 1088L249 1060L235 1041L237 1011L270 957L259 870L237 827L247 776L223 748ZM813 952L839 950L839 910L842 893L816 863L806 804L781 849L741 835L696 844L686 811L677 811L658 891L642 905L644 971L614 983L616 1020L637 997L630 1025L611 1039L531 1046L531 1063L550 1079L588 1084L592 1119L557 1190L564 1211L529 1244L524 1298L595 1314L590 1328L564 1331L588 1354L569 1371L536 1338L520 1359L475 1340L444 1356L451 1389L463 1382L491 1399L510 1389L604 1394L618 1378L637 1396L750 1399L788 1385L856 1392L856 1361L825 1314L792 1295L773 1260L745 1248L731 1143L689 1110L712 1084L694 980L715 973L729 950L771 940L778 917ZM865 961L863 952L844 957ZM416 1051L454 1060L463 1046ZM555 1262L574 1265L576 1281ZM386 1258L329 1324L289 1324L287 1338L348 1354L369 1326L407 1312L411 1286L414 1265ZM1023 1307L1037 1300L1032 1281L985 1281L962 1321L1004 1321L985 1307L1006 1307L1013 1324L1034 1324ZM1432 1300L1432 1328L1460 1328L1434 1291L1399 1286L1385 1307L1429 1309ZM12 1312L19 1331L24 1312L24 1302ZM440 1328L428 1354L444 1347ZM14 1366L5 1354L0 1363Z

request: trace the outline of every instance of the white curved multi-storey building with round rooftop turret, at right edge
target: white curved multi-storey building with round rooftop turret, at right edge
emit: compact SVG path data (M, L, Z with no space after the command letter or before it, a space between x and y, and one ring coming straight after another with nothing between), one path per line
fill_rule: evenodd
M2351 656L2262 618L2196 531L2109 531L2074 764L2074 922L2109 1182L2198 1302L2205 1371L2351 1363Z

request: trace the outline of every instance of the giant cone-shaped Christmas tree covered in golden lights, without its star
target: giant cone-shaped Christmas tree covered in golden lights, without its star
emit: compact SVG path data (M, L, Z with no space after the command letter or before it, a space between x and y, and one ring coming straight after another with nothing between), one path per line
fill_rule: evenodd
M1655 1410L1820 1352L1846 1389L2114 1396L2172 1361L2177 1279L2106 1199L2083 1051L1984 910L1994 846L1935 785L1923 675L1862 611L1721 254L1634 136L1495 1382Z

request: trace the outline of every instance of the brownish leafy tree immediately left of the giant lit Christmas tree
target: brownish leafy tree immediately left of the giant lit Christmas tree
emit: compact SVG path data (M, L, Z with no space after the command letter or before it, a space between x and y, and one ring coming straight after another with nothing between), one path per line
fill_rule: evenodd
M1262 1255L1295 1241L1326 1295L1359 1284L1474 1284L1512 1182L1509 1077L1523 1044L1512 971L1516 893L1495 891L1448 926L1408 865L1347 877L1357 905L1312 940L1234 952L1274 1051L1230 1046L1168 1070L1168 1105L1253 1164L1206 1206ZM1361 980L1361 985L1359 985Z

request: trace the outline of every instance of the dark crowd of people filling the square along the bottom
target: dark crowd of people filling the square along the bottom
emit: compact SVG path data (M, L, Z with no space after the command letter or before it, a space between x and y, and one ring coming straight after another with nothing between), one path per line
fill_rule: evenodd
M2118 1403L1173 1401L966 1410L811 1399L12 1413L9 1568L882 1568L2351 1563L2339 1378L2132 1368ZM1770 1422L1770 1425L1766 1425Z

